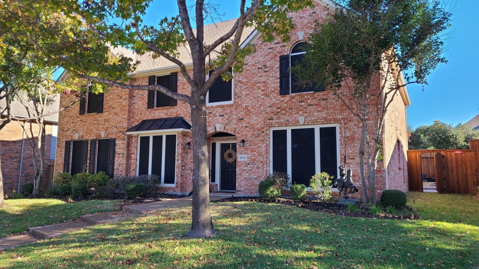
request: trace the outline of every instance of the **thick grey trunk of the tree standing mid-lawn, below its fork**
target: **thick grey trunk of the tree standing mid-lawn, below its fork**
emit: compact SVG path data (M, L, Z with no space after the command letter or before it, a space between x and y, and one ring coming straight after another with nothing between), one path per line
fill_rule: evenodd
M206 101L192 94L191 125L193 139L193 221L188 237L213 235L213 221L209 207L209 167L206 142Z

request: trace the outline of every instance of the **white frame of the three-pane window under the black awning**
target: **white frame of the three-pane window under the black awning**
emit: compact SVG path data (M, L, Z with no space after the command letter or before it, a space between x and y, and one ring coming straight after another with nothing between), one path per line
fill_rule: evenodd
M165 184L164 179L165 179L165 150L166 150L166 135L168 134L175 134L176 135L176 143L175 143L175 176L174 176L174 182L173 184ZM177 143L178 143L178 133L176 132L160 132L160 133L155 133L155 134L138 134L137 140L138 140L138 145L137 145L137 176L138 176L138 167L140 164L140 137L141 136L148 136L149 137L149 152L148 152L148 175L151 175L151 159L152 159L152 153L153 153L153 136L156 135L162 135L163 138L162 140L162 146L161 146L161 183L160 187L176 187L176 172L177 172L177 163L178 163L178 149L177 149Z

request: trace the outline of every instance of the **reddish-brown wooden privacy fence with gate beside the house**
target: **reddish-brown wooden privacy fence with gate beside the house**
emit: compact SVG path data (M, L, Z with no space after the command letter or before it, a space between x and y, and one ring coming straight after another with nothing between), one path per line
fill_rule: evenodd
M479 140L469 145L470 149L408 150L409 190L422 192L422 174L429 173L426 177L436 179L438 193L473 194L479 186Z

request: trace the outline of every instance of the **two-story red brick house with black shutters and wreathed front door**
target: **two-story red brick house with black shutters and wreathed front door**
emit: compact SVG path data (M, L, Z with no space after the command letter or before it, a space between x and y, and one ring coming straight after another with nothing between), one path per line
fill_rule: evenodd
M360 122L330 91L299 88L288 72L289 65L305 53L300 44L313 31L315 21L324 18L325 5L317 0L313 10L288 14L297 27L287 44L279 39L265 43L261 33L245 29L243 44L254 44L256 53L245 59L243 73L234 73L230 81L218 78L207 95L210 190L257 194L260 181L274 170L309 185L311 176L320 171L337 177L343 156L360 185ZM205 42L216 40L233 23L205 26ZM170 61L123 48L114 52L141 62L130 83L158 83L190 94L179 67ZM191 63L186 48L180 50L180 59L186 66ZM64 74L61 79L67 77ZM379 85L379 76L375 83ZM69 98L62 95L61 105ZM377 191L408 190L409 104L406 89L401 89L386 116L385 162L377 170ZM190 123L189 105L160 92L113 88L101 95L89 94L73 109L60 112L55 170L104 171L109 176L157 174L159 191L188 193L193 169ZM374 135L370 137L374 148ZM225 160L229 149L237 152L237 161Z

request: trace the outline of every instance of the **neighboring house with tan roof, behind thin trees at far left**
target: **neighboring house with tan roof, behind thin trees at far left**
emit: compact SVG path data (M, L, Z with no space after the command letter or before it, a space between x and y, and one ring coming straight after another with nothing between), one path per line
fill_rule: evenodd
M54 112L58 110L60 96L55 97L55 101L48 104L46 112ZM2 100L0 107L5 107L5 101ZM20 101L11 103L11 113L19 118L28 118L28 111ZM2 117L6 116L1 115ZM34 121L27 123L27 134L23 132L20 123L12 120L0 130L0 159L1 170L3 176L3 191L11 193L19 191L23 183L33 183L33 160L32 150L28 143L31 137L30 126L33 126L34 137L38 134L38 124ZM57 149L57 129L58 129L58 113L45 117L45 171L42 181L42 188L45 189L48 179L53 177L53 165L55 164L55 153ZM36 143L36 140L35 140ZM51 171L49 173L49 171Z

